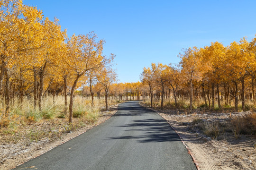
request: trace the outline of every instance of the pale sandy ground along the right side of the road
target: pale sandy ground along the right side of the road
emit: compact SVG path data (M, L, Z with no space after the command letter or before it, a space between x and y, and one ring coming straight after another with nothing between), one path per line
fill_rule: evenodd
M256 136L242 135L236 139L233 134L225 134L223 139L211 139L200 131L191 128L192 120L227 121L226 113L190 114L185 115L176 111L155 110L166 119L177 131L189 148L200 170L256 170ZM232 116L243 116L250 112L234 113Z

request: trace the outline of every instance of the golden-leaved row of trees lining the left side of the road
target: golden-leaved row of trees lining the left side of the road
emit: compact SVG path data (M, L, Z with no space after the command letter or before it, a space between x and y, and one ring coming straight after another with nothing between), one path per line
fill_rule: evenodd
M51 93L54 99L62 91L67 114L70 87L69 121L72 122L77 87L101 72L98 80L107 92L116 79L110 68L115 55L104 55L103 45L104 40L99 40L93 32L68 37L57 18L54 21L44 18L42 11L24 5L22 0L0 0L0 96L5 101L5 116L15 96L21 108L24 95L33 96L34 108L41 110L46 93Z

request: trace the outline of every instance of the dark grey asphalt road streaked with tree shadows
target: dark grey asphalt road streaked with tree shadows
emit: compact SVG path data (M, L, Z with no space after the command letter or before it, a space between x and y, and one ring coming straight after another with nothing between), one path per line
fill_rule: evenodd
M101 125L15 170L21 169L196 170L165 119L133 101L120 104L118 112Z

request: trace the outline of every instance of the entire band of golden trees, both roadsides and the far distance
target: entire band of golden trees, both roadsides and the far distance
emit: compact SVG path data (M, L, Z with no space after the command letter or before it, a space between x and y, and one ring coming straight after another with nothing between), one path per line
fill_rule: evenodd
M214 42L204 48L189 48L180 53L179 65L152 63L144 68L141 82L115 84L116 73L110 68L114 54L103 54L104 41L93 32L68 37L58 19L43 17L42 11L22 4L22 0L0 0L0 97L5 116L15 97L23 107L24 96L33 98L34 108L42 109L47 93L64 95L64 114L67 114L67 97L70 94L69 121L72 122L73 96L76 88L84 86L91 95L108 99L140 100L150 96L164 99L177 96L202 98L209 108L221 108L238 100L245 109L246 99L255 101L256 38L247 42L232 42L225 47Z

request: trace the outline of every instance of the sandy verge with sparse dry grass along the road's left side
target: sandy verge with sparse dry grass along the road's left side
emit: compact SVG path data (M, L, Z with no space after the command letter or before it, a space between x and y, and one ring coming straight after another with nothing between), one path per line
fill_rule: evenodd
M18 134L0 134L0 170L10 170L25 161L33 159L38 155L69 141L70 139L86 132L88 129L101 124L116 113L117 107L118 104L110 107L110 111L101 112L101 116L93 124L81 125L72 131L70 131L68 127L63 126L64 124L67 124L68 120L59 118L30 124L24 127L24 129L20 129ZM40 134L44 135L43 132L48 131L47 137L31 141L31 139L27 137L27 134L24 135L24 133L22 133L27 131L28 128L32 129L29 131L30 134L28 133L30 136L36 136L36 138L39 138ZM36 132L33 131L33 128L42 129L40 130L42 133L35 134ZM61 128L63 129L59 133ZM52 134L49 135L49 131L51 131Z

